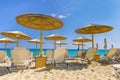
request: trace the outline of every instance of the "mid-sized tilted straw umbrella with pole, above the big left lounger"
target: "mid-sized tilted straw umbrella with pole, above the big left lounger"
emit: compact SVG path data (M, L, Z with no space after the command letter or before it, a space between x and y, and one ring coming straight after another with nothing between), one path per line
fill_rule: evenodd
M11 38L16 38L16 47L18 47L18 42L19 39L24 39L24 40L30 40L31 37L24 34L23 32L20 31L9 31L9 32L1 32L2 35L11 37Z

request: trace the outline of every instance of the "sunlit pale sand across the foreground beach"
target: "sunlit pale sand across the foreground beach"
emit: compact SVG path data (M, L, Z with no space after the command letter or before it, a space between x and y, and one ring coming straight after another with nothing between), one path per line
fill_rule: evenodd
M48 66L20 70L2 75L0 80L119 80L115 72L111 65L101 66L95 62L89 66L70 64L68 68Z

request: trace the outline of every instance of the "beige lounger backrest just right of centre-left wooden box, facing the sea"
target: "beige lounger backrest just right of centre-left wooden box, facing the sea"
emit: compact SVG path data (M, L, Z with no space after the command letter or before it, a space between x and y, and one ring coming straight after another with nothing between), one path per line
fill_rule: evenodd
M54 51L54 60L58 63L63 62L64 58L68 56L68 51L65 48L57 48Z

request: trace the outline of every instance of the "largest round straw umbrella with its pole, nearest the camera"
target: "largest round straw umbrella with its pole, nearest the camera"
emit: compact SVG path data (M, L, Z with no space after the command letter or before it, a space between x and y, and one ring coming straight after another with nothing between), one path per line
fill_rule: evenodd
M55 30L63 26L63 23L48 15L43 14L23 14L16 17L17 23L27 28L40 30L40 40L42 41L42 32L44 30ZM42 44L40 43L40 53L42 56Z

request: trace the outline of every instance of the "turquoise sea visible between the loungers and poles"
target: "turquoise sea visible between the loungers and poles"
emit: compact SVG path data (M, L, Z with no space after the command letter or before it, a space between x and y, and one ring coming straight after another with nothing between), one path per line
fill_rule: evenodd
M4 49L0 49L0 50L4 50ZM46 51L47 51L47 50L53 50L53 51L54 51L54 49L43 49L44 55L46 55ZM77 49L67 49L67 50L68 50L68 56L69 56L69 57L76 56L77 53L78 53L78 50L77 50ZM87 52L87 50L88 50L88 49L84 49L84 52ZM33 57L34 57L35 55L40 55L40 54L39 54L39 52L40 52L39 49L38 49L38 50L36 50L36 49L29 49L29 51L32 53ZM109 50L99 49L99 50L97 51L97 53L98 53L101 57L103 57L105 54L108 53L108 51L109 51ZM7 56L8 56L9 58L11 58L11 49L6 49L6 53L7 53Z

